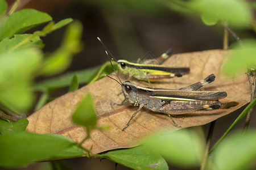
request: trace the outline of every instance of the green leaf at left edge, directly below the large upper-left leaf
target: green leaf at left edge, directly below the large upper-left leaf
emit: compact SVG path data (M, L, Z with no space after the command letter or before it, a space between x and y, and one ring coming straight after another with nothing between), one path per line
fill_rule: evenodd
M14 35L11 39L6 37L0 41L0 54L31 47L44 47L43 41L39 36L32 36L30 34Z

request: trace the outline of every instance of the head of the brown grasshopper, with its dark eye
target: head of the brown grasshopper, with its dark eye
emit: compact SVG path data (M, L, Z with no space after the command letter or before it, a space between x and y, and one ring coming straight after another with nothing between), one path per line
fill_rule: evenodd
M125 99L130 104L137 103L137 87L135 84L130 83L129 81L122 83L122 92L123 96L125 96Z

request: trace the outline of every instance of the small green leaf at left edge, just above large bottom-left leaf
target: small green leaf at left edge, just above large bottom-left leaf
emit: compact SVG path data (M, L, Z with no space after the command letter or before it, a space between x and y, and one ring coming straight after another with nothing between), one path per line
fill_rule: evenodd
M2 135L13 134L20 131L25 131L28 125L28 120L26 118L20 119L16 122L8 122L5 120L0 120L0 133Z

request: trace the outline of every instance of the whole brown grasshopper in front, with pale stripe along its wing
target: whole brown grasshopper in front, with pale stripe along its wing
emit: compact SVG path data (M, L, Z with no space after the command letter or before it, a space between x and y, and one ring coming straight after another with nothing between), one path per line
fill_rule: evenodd
M108 54L107 51L106 53ZM112 65L111 60L110 63ZM114 67L113 70L115 71ZM116 72L115 74L117 75ZM119 79L118 75L117 77ZM109 76L109 78L111 77ZM133 116L131 116L122 131L130 125L133 117L136 116L143 107L154 112L167 114L177 128L181 128L181 126L176 124L171 114L176 115L199 111L201 109L220 108L221 103L218 100L227 96L225 91L196 91L206 84L213 82L214 79L214 74L210 74L207 78L200 80L200 82L180 88L179 90L141 87L129 81L122 83L120 79L119 82L114 79L121 85L126 101L131 105L139 107L137 111L133 113Z

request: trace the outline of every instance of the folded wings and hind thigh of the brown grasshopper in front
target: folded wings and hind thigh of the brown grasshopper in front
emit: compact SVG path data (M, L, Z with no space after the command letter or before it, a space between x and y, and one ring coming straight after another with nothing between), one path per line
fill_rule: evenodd
M220 101L226 97L225 91L154 91L151 97L160 103L158 108L152 109L155 112L184 114L201 109L218 109L221 107Z

